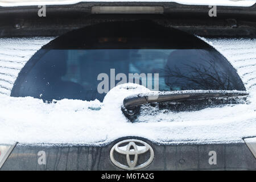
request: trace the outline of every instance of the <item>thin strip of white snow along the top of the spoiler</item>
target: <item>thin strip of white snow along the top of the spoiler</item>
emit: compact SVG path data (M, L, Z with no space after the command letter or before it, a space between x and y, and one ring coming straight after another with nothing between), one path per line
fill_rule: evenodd
M95 0L3 0L0 6L32 5L70 5L79 2L96 2ZM217 5L217 6L253 6L255 0L100 0L98 2L176 2L183 5Z

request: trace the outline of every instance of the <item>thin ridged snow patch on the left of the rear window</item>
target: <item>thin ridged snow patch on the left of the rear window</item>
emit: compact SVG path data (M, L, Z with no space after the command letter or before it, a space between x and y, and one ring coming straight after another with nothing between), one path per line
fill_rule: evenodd
M20 69L38 49L52 39L0 38L0 94L10 95Z

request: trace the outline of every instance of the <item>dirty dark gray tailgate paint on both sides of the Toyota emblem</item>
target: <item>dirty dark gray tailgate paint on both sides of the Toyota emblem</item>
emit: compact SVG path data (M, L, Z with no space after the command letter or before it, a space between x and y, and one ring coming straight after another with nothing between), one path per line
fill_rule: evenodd
M122 170L109 156L120 140L101 147L17 144L1 170ZM143 170L256 170L256 159L245 143L163 145L142 140L155 154ZM38 164L39 151L46 152L46 165ZM209 151L216 151L216 165L209 164Z

